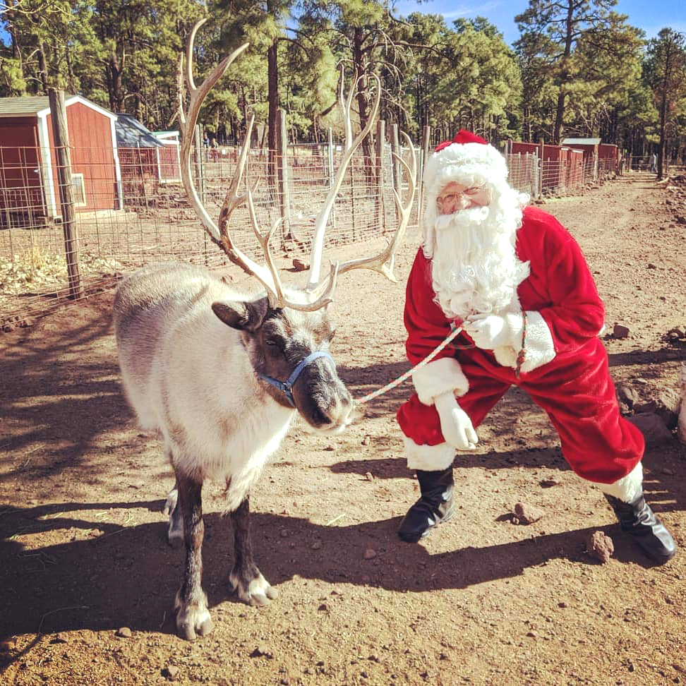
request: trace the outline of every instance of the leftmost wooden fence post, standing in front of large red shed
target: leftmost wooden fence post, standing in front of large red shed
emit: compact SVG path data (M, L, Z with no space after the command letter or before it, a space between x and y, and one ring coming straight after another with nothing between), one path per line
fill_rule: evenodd
M74 191L71 185L71 157L69 155L69 136L66 122L64 92L49 88L52 135L55 141L55 158L59 185L59 201L62 210L62 230L64 232L64 254L66 256L69 279L69 297L77 300L83 296L83 285L78 265L78 231L74 210Z

